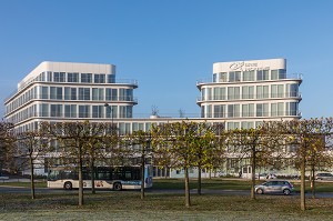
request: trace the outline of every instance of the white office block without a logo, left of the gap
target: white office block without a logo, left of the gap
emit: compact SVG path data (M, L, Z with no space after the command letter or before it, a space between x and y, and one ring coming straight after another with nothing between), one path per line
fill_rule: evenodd
M112 64L42 62L6 100L4 117L19 132L44 120L128 119L138 104L137 88L134 80L117 81Z

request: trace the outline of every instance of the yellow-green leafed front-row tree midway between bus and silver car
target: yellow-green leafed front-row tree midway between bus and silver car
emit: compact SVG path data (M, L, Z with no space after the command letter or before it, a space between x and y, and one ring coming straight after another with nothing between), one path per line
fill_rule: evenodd
M191 207L189 169L192 167L205 167L209 164L211 149L215 134L206 123L182 121L165 123L152 128L153 149L160 152L169 152L173 160L173 169L184 170L185 207ZM154 153L157 153L154 151ZM159 153L161 155L161 153ZM199 170L201 173L201 170ZM199 185L200 188L200 185Z

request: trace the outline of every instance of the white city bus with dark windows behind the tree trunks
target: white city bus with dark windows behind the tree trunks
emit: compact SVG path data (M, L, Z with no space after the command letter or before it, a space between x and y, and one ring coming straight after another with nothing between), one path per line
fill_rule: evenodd
M91 188L91 172L83 167L83 188ZM144 188L152 187L152 167L144 167ZM49 170L48 188L78 189L79 173L73 169L57 167ZM95 167L94 188L110 190L141 189L141 167Z

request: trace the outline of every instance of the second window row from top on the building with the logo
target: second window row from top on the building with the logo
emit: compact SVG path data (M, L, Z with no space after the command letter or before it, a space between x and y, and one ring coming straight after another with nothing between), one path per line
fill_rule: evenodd
M214 87L201 90L201 101L300 97L297 83Z

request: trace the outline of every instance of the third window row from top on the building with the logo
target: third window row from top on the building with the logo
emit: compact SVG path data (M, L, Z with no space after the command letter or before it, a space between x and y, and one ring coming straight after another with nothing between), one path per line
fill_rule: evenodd
M299 115L297 102L208 104L201 107L202 118L249 118Z

